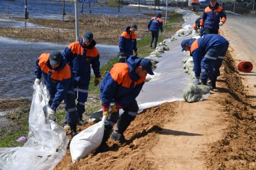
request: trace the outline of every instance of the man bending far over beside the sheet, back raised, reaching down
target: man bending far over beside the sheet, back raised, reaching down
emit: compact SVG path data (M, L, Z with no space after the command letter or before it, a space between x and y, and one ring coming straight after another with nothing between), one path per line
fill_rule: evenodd
M199 78L201 78L201 83L206 85L207 79L210 78L213 89L216 88L216 80L220 75L219 68L221 68L228 45L229 43L224 37L216 34L181 42L182 51L190 51L190 56L193 57L194 84L199 84Z

